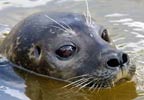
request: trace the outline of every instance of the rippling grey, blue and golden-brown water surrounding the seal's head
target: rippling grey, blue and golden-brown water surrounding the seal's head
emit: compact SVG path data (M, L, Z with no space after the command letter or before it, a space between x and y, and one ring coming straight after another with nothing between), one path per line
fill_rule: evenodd
M137 65L134 82L97 92L62 89L66 83L0 67L1 100L143 100L144 99L144 19L143 0L88 0L97 24L105 26L110 37ZM39 11L86 12L84 0L1 0L0 41L28 15ZM1 62L1 61L0 61Z

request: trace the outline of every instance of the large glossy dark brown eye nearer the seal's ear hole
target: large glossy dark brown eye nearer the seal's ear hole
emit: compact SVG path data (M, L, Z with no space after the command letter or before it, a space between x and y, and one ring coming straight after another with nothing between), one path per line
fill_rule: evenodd
M60 47L58 50L56 50L56 54L58 57L66 59L71 57L76 51L76 47L73 45L64 45Z

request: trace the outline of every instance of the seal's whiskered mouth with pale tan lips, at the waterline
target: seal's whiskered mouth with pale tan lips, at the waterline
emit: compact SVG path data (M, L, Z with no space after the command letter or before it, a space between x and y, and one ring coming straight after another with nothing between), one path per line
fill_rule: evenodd
M121 73L121 72L120 72ZM116 85L126 83L130 81L133 75L127 74L105 74L102 76L97 75L82 75L69 80L70 84L67 86L75 86L78 88L89 88L89 89L108 89L113 88ZM65 87L67 87L65 86Z

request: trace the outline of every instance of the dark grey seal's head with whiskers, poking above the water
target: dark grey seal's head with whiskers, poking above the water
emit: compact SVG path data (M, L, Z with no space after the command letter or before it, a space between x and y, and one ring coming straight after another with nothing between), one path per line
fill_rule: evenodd
M113 46L107 29L78 13L27 17L11 30L0 52L19 67L81 87L112 87L135 73L129 56Z

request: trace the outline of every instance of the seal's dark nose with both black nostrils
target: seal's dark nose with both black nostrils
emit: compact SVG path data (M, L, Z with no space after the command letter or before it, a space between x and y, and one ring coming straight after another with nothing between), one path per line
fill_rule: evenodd
M128 58L126 53L121 53L120 56L110 57L107 61L107 66L122 67L124 64L128 63Z

